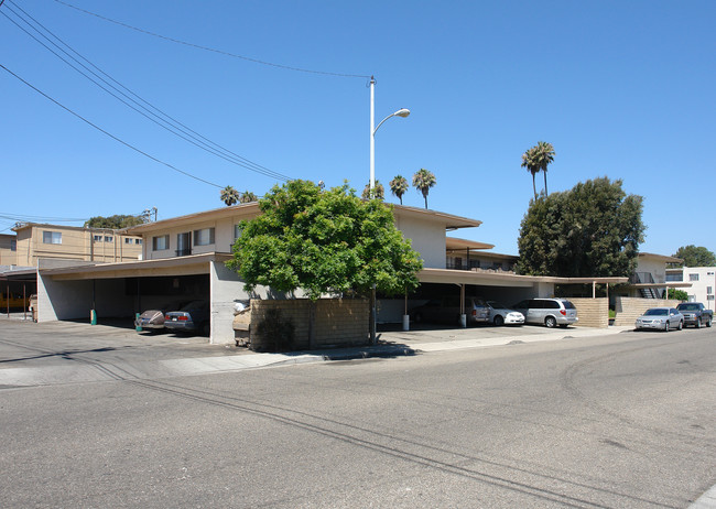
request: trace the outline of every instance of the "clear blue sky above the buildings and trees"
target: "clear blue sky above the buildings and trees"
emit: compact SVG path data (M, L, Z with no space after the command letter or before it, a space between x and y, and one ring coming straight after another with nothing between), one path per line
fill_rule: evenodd
M238 56L375 75L377 122L399 108L412 111L377 133L378 180L432 171L430 208L482 220L456 236L498 252L518 253L532 196L521 154L538 141L556 151L550 192L608 176L644 197L642 251L672 254L691 243L716 250L713 226L698 227L714 215L713 1L68 3L193 45L56 0L6 0L0 64L154 160L0 68L3 232L15 219L56 223L150 207L170 218L223 206L216 186L262 195L281 183L120 104L11 21L32 30L26 20L206 139L272 172L328 186L348 180L360 191L368 182L368 78ZM411 188L403 203L422 207L423 198ZM684 213L701 219L685 224Z

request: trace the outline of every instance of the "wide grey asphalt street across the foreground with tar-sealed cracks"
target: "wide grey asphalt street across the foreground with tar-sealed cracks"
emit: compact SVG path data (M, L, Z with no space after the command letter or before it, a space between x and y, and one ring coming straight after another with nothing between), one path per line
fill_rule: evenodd
M10 329L0 364L48 355ZM714 331L8 387L1 503L685 508L716 483Z

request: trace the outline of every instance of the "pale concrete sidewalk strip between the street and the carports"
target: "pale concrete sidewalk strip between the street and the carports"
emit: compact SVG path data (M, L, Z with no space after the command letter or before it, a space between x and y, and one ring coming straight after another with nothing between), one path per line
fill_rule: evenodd
M223 355L202 355L170 358L155 357L151 360L135 356L117 358L90 358L82 351L73 351L63 364L42 366L3 367L0 369L0 387L29 387L55 383L73 383L106 380L137 380L232 372L243 369L286 366L327 360L351 360L364 358L391 358L420 353L435 353L465 348L485 348L516 343L550 342L564 338L604 336L619 334L631 327L587 328L569 327L547 329L544 327L468 327L464 329L392 331L378 335L375 346L333 348L323 350L265 354L241 350ZM167 354L167 351L165 351ZM174 351L178 354L178 351Z

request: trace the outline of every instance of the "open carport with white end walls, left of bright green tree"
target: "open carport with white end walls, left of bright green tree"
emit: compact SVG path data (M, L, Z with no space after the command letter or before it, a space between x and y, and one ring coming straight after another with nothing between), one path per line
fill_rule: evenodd
M230 254L204 253L123 263L80 264L37 271L39 322L99 318L132 320L167 302L207 300L211 343L234 339L234 303L249 299L224 262Z

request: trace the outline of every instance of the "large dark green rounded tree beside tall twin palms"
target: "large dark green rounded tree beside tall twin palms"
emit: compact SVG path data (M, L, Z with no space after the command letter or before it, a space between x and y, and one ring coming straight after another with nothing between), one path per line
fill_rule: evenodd
M643 198L607 177L530 202L517 271L531 275L630 275L643 241Z

